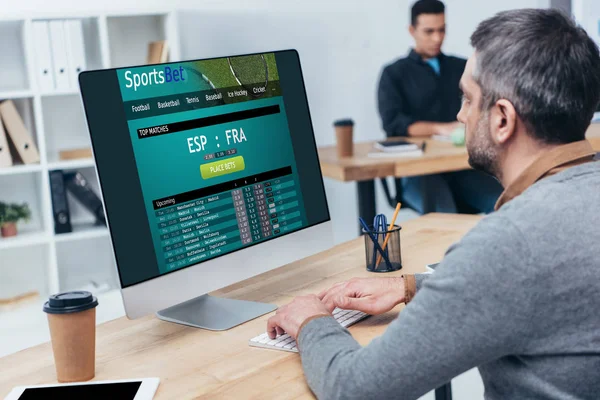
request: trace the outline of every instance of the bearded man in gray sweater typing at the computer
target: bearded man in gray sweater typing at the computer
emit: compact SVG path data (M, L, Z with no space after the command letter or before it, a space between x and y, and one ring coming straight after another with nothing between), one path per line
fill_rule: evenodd
M471 37L458 119L470 164L505 188L429 278L343 282L269 319L296 337L322 399L414 399L479 367L486 399L600 398L600 100L595 43L552 10L504 12ZM334 307L407 307L360 346Z

